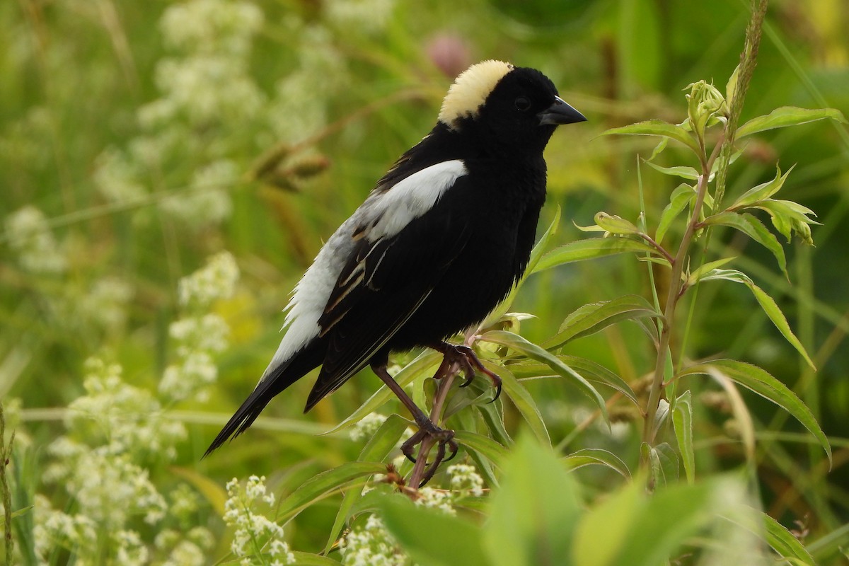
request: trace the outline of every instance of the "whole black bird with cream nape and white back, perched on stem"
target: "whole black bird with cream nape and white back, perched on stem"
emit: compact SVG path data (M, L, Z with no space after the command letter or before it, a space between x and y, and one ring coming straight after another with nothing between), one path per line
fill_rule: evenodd
M413 414L440 451L453 431L436 427L386 371L391 351L419 346L471 378L492 378L473 350L445 339L481 322L525 272L545 200L548 138L586 120L538 70L484 61L448 90L433 130L397 160L295 287L286 333L256 389L205 455L250 427L274 395L321 366L306 411L363 367ZM440 375L440 373L437 373ZM497 394L498 395L498 394Z

